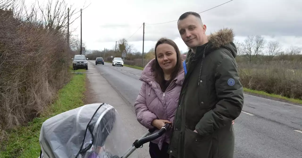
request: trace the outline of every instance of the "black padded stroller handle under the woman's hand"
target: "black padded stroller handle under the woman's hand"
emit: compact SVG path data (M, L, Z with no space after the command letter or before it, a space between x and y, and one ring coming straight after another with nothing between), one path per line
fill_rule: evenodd
M156 138L159 138L160 136L162 136L168 129L170 128L170 124L166 123L158 132L146 136L144 138L141 138L140 140L137 140L133 143L133 146L136 148L139 148L140 146L142 146L143 144L149 142L149 141L153 141ZM156 130L156 128L153 129L149 129L150 133L153 133Z

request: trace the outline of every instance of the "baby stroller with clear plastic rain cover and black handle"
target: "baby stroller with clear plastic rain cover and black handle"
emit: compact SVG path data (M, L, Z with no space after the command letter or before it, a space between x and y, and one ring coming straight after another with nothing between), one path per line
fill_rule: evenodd
M168 129L169 124L154 134L155 129L149 129L131 143L114 107L105 103L87 104L43 122L39 158L136 158L137 148L159 138Z

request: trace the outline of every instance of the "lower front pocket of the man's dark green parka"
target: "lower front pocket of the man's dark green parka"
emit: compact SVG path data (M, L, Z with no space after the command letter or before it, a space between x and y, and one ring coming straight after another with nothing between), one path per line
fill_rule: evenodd
M184 157L212 157L212 135L202 137L198 133L185 129Z

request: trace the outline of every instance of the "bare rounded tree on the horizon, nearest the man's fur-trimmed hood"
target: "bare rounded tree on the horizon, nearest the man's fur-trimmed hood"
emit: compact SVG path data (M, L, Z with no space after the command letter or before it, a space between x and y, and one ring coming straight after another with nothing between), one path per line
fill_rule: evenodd
M243 52L251 62L253 58L257 58L265 47L265 39L262 36L248 36L242 43Z

